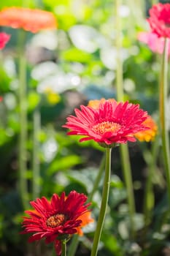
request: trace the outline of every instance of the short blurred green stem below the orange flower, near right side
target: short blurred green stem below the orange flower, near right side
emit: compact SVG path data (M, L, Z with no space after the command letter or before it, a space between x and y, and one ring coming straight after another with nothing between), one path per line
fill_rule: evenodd
M156 157L158 155L158 138L155 138L155 141L152 142L151 151L144 149L143 157L144 161L147 163L147 180L144 189L144 225L145 233L147 231L147 226L151 222L152 208L154 207L154 193L152 187L152 176L154 175L156 168Z

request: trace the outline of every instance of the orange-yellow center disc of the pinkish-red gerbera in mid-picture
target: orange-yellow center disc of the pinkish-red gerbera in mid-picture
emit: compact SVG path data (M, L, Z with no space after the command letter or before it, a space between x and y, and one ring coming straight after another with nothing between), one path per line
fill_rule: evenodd
M114 123L112 121L104 121L100 124L94 125L93 132L96 132L99 135L103 135L104 132L117 132L120 127L120 124Z

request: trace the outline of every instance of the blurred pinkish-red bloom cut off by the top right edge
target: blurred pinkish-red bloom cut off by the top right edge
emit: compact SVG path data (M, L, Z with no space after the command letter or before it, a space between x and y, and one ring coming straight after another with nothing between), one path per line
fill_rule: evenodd
M170 4L154 4L149 12L150 18L147 21L152 33L170 38Z

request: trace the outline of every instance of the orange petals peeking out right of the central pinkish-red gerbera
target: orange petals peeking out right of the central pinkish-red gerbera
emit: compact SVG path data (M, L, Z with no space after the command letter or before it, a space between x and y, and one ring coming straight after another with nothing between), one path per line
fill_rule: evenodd
M134 136L139 140L139 141L147 141L149 142L150 140L154 140L155 135L158 131L158 127L155 124L155 121L152 119L151 116L148 116L148 118L143 122L146 127L149 129L141 132L137 132Z

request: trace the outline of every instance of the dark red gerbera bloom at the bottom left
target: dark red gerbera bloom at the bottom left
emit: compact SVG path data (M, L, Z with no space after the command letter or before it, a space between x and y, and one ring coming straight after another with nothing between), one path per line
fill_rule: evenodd
M82 227L82 214L88 212L85 205L87 197L76 191L65 193L61 197L54 194L50 202L46 197L31 201L34 211L26 211L30 217L23 217L22 233L34 233L29 242L45 238L45 243L54 242L57 255L61 255L61 241L69 239L70 235L77 233L77 228Z

